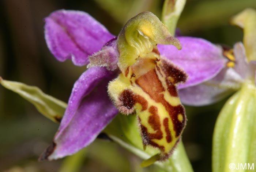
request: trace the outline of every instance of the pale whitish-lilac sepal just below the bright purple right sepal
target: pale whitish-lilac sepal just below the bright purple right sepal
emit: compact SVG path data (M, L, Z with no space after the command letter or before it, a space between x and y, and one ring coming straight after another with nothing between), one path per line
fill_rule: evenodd
M203 106L215 103L241 87L243 79L233 68L224 68L213 79L179 90L181 102Z

